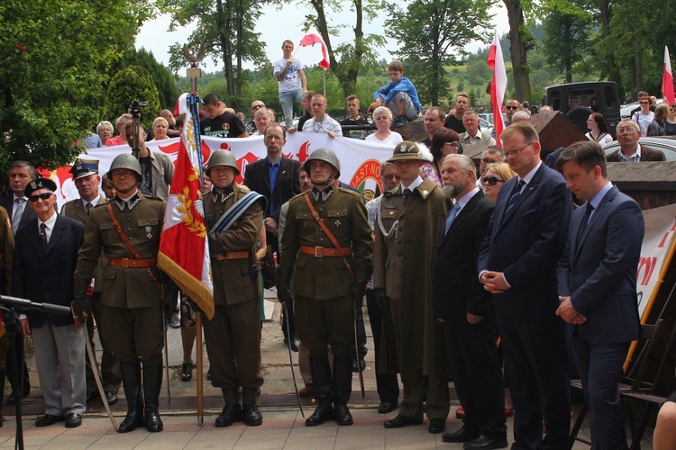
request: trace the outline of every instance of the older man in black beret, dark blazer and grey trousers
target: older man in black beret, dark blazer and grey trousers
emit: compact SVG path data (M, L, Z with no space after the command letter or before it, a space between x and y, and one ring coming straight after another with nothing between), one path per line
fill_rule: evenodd
M68 307L85 227L57 214L55 192L50 179L37 178L26 186L37 219L16 233L13 288L17 297ZM79 427L87 396L84 331L70 315L33 310L26 314L45 401L45 415L35 426L65 420L67 428Z

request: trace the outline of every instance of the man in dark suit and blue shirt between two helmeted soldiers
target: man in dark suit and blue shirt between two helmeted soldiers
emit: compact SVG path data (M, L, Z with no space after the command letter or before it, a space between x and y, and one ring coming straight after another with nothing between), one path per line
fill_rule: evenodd
M300 184L298 184L300 163L295 159L284 157L282 148L286 144L287 130L279 123L269 125L265 130L265 147L268 149L268 157L250 164L244 172L244 185L251 191L260 193L268 200L263 221L265 222L268 245L274 251L279 250L277 235L281 205L300 193ZM293 311L291 309L284 311L284 317L281 320L284 341L291 346L293 351L297 352L298 341ZM288 320L288 329L291 336L287 336L285 320Z

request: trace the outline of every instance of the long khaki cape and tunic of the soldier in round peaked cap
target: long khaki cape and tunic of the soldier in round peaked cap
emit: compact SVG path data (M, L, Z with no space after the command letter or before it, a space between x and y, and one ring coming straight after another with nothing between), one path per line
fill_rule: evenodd
M386 231L392 229L391 235L386 237L376 222L373 287L385 289L392 299L389 304L397 346L383 339L381 370L422 369L427 375L447 376L450 367L443 329L434 319L432 269L451 202L430 180L416 187L406 204L400 195L401 185L391 192L393 195L383 196L380 203L383 226ZM383 335L387 333L385 330Z

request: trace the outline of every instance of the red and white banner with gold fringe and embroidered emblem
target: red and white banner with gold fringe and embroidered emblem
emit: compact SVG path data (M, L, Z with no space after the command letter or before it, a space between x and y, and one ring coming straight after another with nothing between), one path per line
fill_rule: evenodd
M189 95L193 97L189 100L196 102L196 94ZM194 121L194 112L187 107L187 97L188 94L182 94L178 100L179 112L186 114L185 126L169 189L158 266L211 319L214 317L214 284L200 193L202 158L196 130L199 125Z

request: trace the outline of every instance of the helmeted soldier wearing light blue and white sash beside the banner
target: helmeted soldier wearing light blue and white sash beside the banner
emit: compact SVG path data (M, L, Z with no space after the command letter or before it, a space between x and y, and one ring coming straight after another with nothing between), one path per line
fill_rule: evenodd
M211 268L214 277L215 315L206 320L206 352L211 383L221 388L225 400L216 427L229 427L244 420L251 427L263 423L256 395L263 384L260 374L260 280L253 266L254 247L263 225L265 198L260 197L242 212L230 216L231 207L250 193L235 183L240 171L232 152L216 150L209 158L206 175L213 184L203 197L209 232ZM254 198L255 198L254 197ZM242 204L242 203L240 203ZM230 228L211 231L223 217L232 217ZM242 388L240 405L239 388Z

